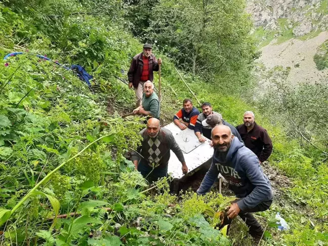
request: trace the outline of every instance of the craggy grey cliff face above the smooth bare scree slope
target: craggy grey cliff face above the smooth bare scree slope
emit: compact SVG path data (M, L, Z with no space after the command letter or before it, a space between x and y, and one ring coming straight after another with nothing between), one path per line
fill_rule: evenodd
M321 0L248 0L247 11L255 27L264 30L292 30L295 36L326 30L328 9ZM278 33L278 32L277 32ZM276 35L279 36L280 34Z

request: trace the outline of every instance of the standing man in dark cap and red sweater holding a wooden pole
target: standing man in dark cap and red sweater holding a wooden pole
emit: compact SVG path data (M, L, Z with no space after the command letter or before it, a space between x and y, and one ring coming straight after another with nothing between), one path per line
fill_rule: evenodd
M151 82L154 79L153 71L158 71L158 65L162 63L161 58L158 58L151 54L152 46L150 44L144 44L143 52L136 55L131 62L130 69L128 71L129 87L134 88L137 97L137 107L142 103L143 86L146 81Z

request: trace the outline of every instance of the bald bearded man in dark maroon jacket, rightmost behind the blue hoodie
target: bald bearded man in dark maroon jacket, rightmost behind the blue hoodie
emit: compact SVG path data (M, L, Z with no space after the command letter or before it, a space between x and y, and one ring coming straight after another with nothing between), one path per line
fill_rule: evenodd
M272 142L267 131L256 124L254 113L246 111L243 115L243 122L237 127L246 147L252 150L260 162L267 160L272 152Z

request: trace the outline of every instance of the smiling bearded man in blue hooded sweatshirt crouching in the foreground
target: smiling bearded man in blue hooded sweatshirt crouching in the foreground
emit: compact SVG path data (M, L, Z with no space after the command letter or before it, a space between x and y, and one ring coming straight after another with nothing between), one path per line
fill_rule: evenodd
M212 165L197 194L207 193L221 173L237 197L229 206L223 224L230 224L239 215L249 227L250 234L259 241L264 230L251 213L265 211L271 206L270 181L263 173L258 157L231 134L229 127L215 127L212 130L212 141Z

